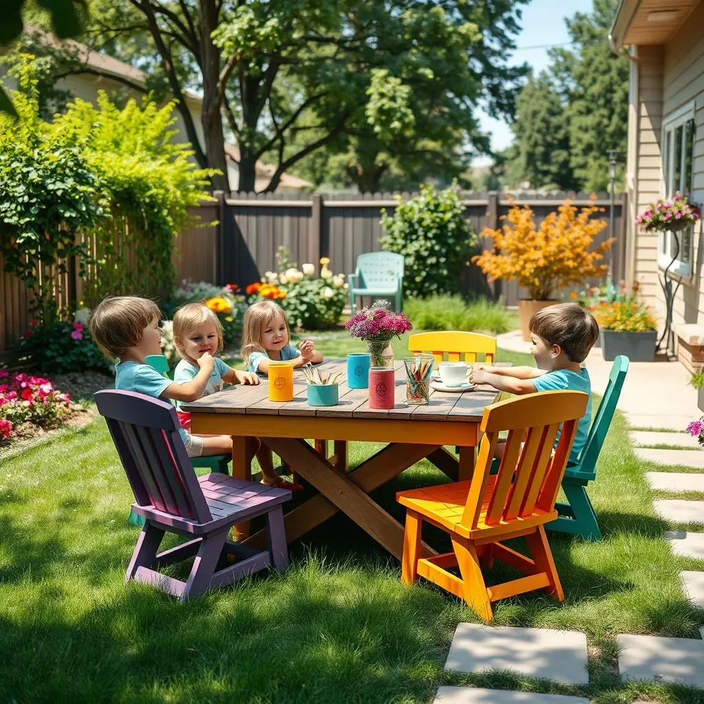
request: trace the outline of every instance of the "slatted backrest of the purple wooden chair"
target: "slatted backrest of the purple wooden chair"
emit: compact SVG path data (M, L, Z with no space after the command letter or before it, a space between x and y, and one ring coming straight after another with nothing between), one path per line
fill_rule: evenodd
M137 503L199 523L211 520L173 406L134 391L98 391L95 401Z

